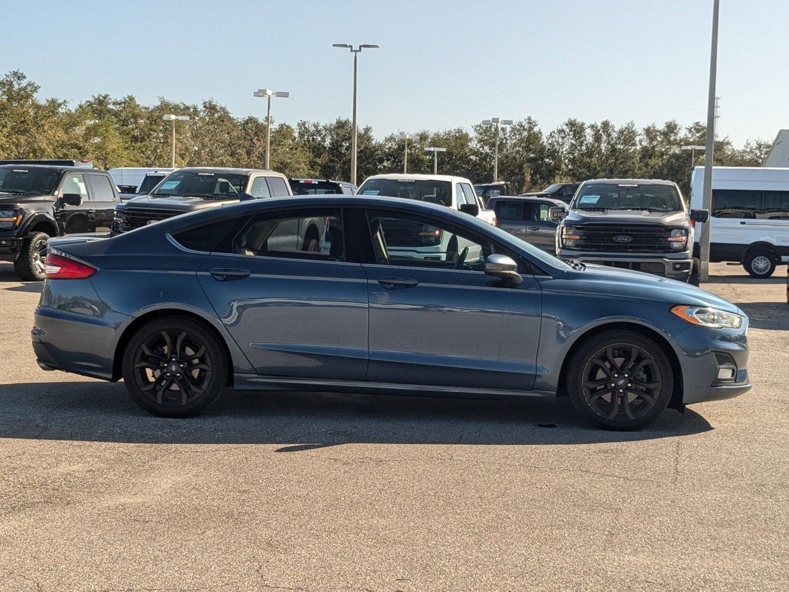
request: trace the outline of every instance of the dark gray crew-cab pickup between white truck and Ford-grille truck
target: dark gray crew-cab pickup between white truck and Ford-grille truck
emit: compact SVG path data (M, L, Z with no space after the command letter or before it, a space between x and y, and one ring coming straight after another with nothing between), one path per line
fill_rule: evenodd
M563 201L548 197L491 197L488 208L495 212L499 228L552 255L556 253L556 228L551 208L567 210Z

